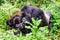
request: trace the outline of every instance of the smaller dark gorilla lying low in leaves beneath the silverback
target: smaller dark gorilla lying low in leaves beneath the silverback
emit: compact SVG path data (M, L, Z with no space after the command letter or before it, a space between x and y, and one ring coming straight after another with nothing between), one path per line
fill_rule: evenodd
M11 19L7 20L7 25L9 25L9 29L17 29L17 32L14 32L14 34L20 34L20 31L22 32L22 34L27 34L30 33L31 30L25 28L25 24L23 21L26 21L26 17L21 18L21 16L19 15L15 15L13 16Z

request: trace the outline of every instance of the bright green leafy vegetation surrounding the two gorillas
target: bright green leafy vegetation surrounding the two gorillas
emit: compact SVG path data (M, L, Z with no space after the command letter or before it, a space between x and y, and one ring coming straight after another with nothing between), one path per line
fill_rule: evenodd
M20 8L26 4L51 11L54 18L52 20L54 26L50 32L48 31L47 26L37 29L37 25L39 25L38 22L40 22L41 20L37 21L33 18L32 21L34 25L32 25L32 33L30 34L26 34L25 36L23 36L22 33L20 33L19 35L14 35L14 29L7 30L8 26L6 25L6 20L9 19L15 11L20 10ZM0 0L0 40L60 40L60 1Z

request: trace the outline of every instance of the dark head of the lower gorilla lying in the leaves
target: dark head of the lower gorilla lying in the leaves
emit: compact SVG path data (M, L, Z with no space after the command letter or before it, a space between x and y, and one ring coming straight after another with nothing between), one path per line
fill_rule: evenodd
M9 27L11 27L11 28L21 28L22 26L22 24L21 24L21 22L22 22L22 20L21 20L21 18L20 18L20 16L19 15L15 15L15 16L13 16L11 19L9 19L9 20L7 20L7 25L9 25ZM17 26L18 25L18 26Z

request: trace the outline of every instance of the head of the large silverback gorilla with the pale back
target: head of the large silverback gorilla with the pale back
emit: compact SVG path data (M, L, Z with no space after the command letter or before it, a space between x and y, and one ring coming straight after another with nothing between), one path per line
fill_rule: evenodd
M21 12L22 17L31 17L32 9L29 8L29 6L24 6L23 8L21 8Z

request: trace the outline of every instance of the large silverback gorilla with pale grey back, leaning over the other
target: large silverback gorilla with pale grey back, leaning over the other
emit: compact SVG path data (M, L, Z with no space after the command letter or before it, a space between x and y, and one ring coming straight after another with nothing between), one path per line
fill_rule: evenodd
M41 24L38 26L38 28L41 26L48 26L48 29L50 30L52 27L52 23L50 20L52 20L52 15L49 11L42 10L37 7L25 5L21 8L21 17L28 20L28 22L31 22L31 18L33 17L36 19L42 19ZM25 20L26 21L26 20Z

